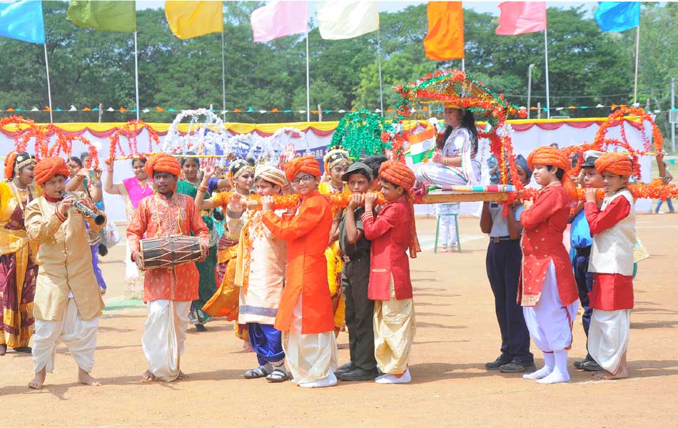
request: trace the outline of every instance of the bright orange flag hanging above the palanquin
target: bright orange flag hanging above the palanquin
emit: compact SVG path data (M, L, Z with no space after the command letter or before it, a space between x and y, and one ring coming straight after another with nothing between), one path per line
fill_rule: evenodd
M426 58L434 61L464 58L464 11L461 1L429 1Z

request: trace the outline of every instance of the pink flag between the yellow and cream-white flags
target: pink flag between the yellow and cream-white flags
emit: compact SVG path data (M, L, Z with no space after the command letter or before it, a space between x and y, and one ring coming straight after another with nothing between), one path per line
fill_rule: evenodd
M271 41L288 34L308 31L305 1L271 1L250 16L254 41Z

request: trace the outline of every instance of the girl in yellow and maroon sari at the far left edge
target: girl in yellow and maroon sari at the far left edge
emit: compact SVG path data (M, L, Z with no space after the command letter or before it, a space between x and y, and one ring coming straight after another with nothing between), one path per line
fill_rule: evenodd
M24 228L24 208L41 195L33 181L34 166L29 153L10 152L5 158L7 181L0 183L0 355L8 346L31 352L38 266L37 248L29 243Z

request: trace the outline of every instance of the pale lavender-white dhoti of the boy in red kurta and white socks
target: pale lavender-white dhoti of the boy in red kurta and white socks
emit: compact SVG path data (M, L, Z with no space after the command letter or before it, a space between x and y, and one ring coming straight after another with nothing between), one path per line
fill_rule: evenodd
M537 305L522 308L530 337L542 352L570 349L572 345L572 322L575 322L579 300L564 307L558 294L558 281L553 262L546 272L542 294Z

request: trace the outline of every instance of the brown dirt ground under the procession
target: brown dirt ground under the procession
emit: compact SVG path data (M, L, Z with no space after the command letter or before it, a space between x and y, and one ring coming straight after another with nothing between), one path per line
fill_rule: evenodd
M76 365L63 345L54 374L41 391L31 391L29 355L0 358L3 426L420 426L462 427L678 426L678 287L674 260L678 215L639 215L637 231L652 258L639 265L636 307L629 347L630 379L594 382L571 369L569 384L540 385L516 374L487 372L500 338L492 292L485 276L487 240L477 219L462 218L462 253L425 251L411 263L417 336L409 385L340 382L307 390L293 383L247 380L255 356L243 352L231 323L217 320L209 331L189 330L181 361L190 379L170 384L139 382L146 370L141 334L146 310L119 302L123 250L103 261L111 309L98 330L93 375L102 387L75 382ZM435 221L418 220L432 235ZM429 238L430 241L430 238ZM113 302L118 301L117 305ZM348 360L348 335L341 333L340 363ZM537 357L537 365L542 362ZM580 317L570 364L585 355ZM673 422L671 422L673 421Z

